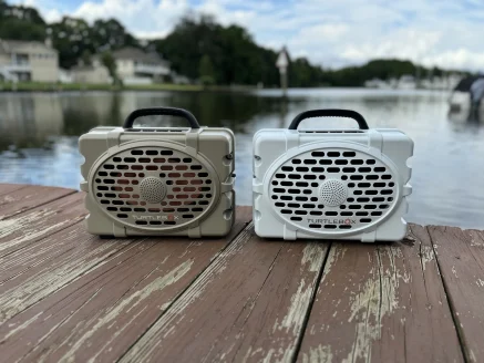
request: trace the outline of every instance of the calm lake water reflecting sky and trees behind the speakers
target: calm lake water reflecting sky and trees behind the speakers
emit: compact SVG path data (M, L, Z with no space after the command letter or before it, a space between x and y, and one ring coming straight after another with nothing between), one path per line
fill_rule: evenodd
M370 127L398 127L414 139L408 220L484 228L484 123L450 118L447 96L343 89L291 90L286 101L278 91L1 93L0 183L79 188L79 135L97 125L121 125L134 108L164 105L192 111L202 125L234 129L237 203L250 205L254 133L287 127L305 110L341 107L360 112ZM305 123L353 126L332 118Z

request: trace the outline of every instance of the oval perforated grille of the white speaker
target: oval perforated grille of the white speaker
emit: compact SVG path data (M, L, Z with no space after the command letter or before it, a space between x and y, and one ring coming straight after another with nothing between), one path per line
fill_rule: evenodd
M323 148L286 160L270 179L269 198L290 224L313 230L358 230L397 203L392 172L373 156Z

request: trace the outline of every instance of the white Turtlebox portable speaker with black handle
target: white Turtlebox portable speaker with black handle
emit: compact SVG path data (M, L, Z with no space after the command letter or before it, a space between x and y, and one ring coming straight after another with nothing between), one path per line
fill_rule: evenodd
M350 117L359 129L297 129L310 117ZM254 136L254 220L260 237L400 240L405 236L413 142L369 129L349 110L307 111L289 129Z

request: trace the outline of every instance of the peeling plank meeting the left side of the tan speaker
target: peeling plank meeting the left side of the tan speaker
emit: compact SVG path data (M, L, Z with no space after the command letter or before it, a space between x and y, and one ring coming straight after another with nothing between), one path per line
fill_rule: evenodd
M33 242L82 220L87 212L83 205L83 193L74 193L0 220L0 257L24 247L35 250L38 246ZM30 255L30 251L22 255L25 259L10 259L8 262L16 263L17 268L20 268L22 263L27 263L29 257L37 258L37 255ZM10 269L10 267L0 262L0 280L2 271L6 269Z

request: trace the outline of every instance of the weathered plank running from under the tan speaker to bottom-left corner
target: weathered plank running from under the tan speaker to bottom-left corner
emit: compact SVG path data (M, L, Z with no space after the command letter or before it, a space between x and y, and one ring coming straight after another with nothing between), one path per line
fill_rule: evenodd
M231 234L217 240L136 240L6 321L0 353L10 361L115 361L250 219L251 208L238 207ZM83 241L76 232L80 246L122 242Z

